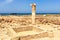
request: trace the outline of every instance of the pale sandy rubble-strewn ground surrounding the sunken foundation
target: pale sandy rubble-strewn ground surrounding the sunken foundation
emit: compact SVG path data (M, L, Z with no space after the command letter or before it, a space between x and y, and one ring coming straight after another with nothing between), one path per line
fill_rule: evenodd
M43 37L43 38L36 38L31 40L60 40L60 15L36 15L36 23L32 25L31 15L27 16L0 16L0 38L4 38L4 35L8 37L11 30L8 29L11 27L18 28L18 27L26 27L26 26L34 26L40 28L46 32L52 31L54 37ZM19 32L21 36L29 35L29 34L36 34L38 32L35 31L24 31ZM1 37L2 36L2 37ZM10 36L9 36L10 37Z

